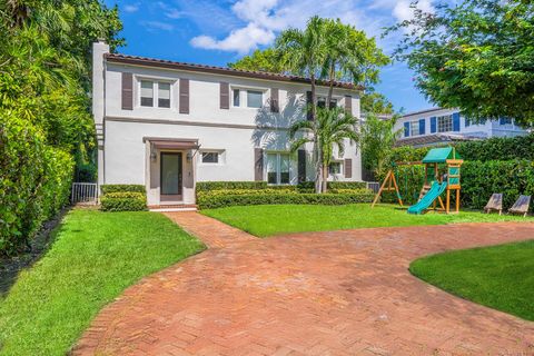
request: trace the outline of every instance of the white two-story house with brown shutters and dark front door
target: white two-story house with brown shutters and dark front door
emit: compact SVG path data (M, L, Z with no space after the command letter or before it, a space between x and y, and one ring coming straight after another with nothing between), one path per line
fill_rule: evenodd
M288 127L306 120L309 80L109 53L93 44L98 184L145 185L149 206L194 204L197 181L315 177L310 146L289 152ZM328 88L318 89L319 103ZM359 117L360 88L336 82L335 105ZM362 180L347 142L329 180Z

